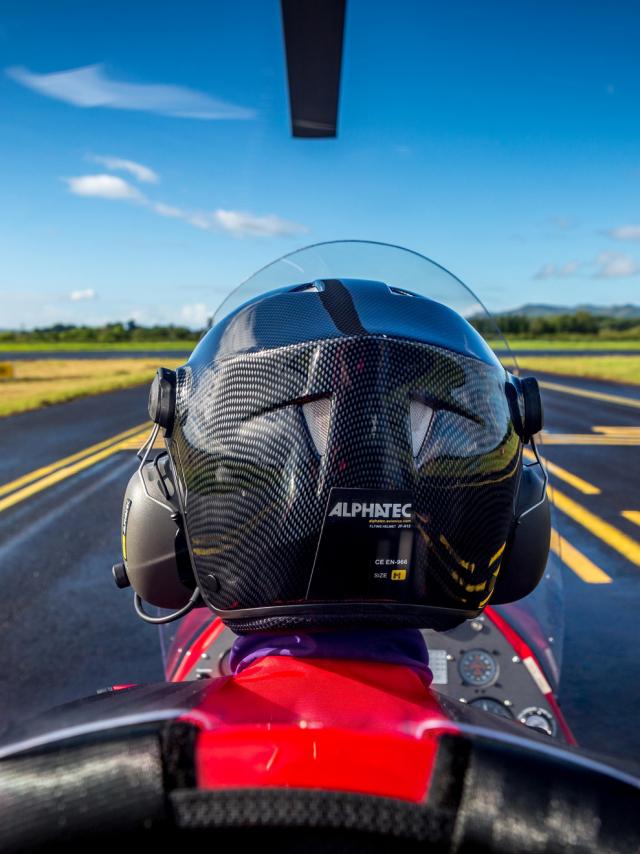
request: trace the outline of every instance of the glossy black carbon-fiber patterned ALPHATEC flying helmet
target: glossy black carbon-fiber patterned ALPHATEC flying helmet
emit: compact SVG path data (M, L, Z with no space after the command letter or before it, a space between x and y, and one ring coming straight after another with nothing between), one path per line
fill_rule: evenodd
M349 278L260 293L159 374L150 412L195 580L236 632L444 629L540 580L537 384L438 301Z

